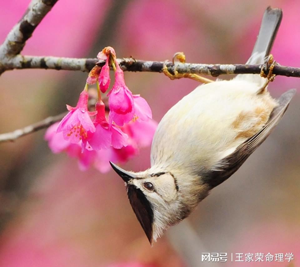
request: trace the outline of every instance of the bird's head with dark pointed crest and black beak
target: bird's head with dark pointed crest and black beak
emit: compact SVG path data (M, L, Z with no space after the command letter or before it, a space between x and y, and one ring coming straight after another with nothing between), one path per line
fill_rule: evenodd
M186 218L199 202L197 195L193 200L191 194L185 194L185 185L178 184L172 172L150 168L134 173L113 163L111 166L124 180L131 207L151 244L168 226Z

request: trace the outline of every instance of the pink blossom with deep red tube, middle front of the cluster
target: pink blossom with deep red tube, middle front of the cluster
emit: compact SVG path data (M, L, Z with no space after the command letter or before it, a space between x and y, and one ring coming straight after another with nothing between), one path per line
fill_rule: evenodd
M108 124L105 117L105 105L101 100L96 103L96 111L97 115L94 120L96 131L94 133L88 132L88 137L85 139L92 149L108 149L110 145L120 149L126 146L127 134L124 134L117 126Z

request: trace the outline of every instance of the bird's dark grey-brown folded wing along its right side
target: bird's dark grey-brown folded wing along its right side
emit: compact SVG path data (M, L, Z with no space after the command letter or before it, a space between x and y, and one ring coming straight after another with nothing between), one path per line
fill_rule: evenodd
M295 93L296 89L291 89L283 93L280 98L277 99L278 106L273 109L265 126L257 134L239 145L232 154L218 162L217 165L220 167L217 167L216 170L208 171L207 174L205 174L203 180L205 183L209 184L210 188L214 188L228 179L234 172L237 171L252 152L257 149L260 144L262 144L282 118Z

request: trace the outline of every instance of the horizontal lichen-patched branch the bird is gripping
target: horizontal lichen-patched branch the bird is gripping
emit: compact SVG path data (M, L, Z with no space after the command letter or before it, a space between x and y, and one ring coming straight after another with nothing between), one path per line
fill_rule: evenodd
M162 72L163 62L161 61L145 61L134 58L118 59L121 68L124 71L139 72ZM59 57L35 57L17 55L2 62L5 70L14 68L43 68L56 70L81 70L88 72L95 64L99 66L104 62L96 58L59 58ZM174 64L167 63L168 70L174 72ZM194 73L217 77L222 74L259 74L262 64L244 65L244 64L196 64L196 63L176 63L178 73ZM267 74L268 70L266 71ZM276 65L273 74L300 77L300 68Z

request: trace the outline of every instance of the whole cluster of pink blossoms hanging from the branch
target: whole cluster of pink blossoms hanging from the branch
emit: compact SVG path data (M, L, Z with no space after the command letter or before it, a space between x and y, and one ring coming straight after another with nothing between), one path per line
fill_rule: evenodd
M137 155L140 147L150 145L157 123L152 120L147 101L133 95L126 86L114 49L104 48L97 57L106 60L105 65L91 70L76 107L67 105L68 114L47 129L45 139L53 153L66 151L69 156L77 157L80 169L94 165L107 172L109 161L124 163ZM107 116L100 91L105 93L110 84L109 63L115 70L115 83L107 94ZM97 83L98 101L91 112L88 85L94 83Z

